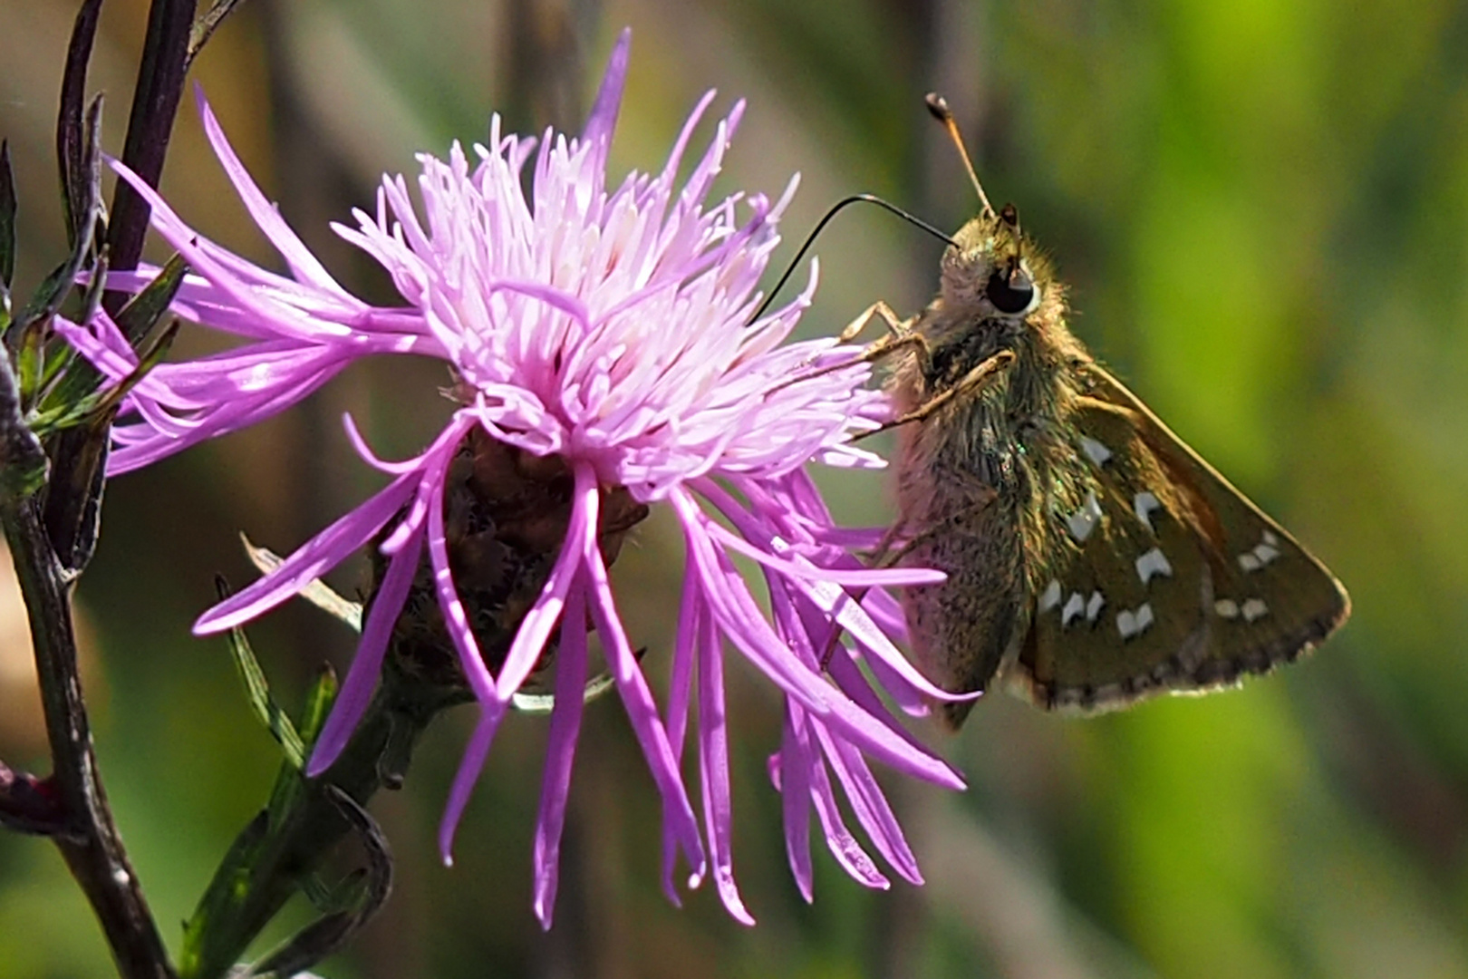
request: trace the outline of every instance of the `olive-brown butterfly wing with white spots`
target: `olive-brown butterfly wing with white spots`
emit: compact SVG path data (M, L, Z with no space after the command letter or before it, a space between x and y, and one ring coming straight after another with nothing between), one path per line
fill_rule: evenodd
M1308 652L1349 615L1340 583L1100 367L1064 430L1029 627L1001 678L1047 709L1207 691Z

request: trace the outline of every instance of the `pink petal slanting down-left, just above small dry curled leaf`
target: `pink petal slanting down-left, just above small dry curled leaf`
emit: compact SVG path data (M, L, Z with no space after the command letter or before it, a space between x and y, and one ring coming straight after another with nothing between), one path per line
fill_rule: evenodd
M297 547L280 567L236 592L194 622L195 636L242 625L273 609L371 540L417 489L420 473L404 473L367 502Z

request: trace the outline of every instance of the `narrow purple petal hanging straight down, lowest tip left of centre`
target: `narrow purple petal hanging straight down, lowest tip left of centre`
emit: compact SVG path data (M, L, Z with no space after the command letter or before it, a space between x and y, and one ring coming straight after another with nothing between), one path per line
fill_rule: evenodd
M555 659L555 707L550 710L550 732L546 738L533 856L536 917L548 931L561 876L561 831L565 826L565 800L571 793L571 763L575 759L586 702L586 594L578 584L567 596Z

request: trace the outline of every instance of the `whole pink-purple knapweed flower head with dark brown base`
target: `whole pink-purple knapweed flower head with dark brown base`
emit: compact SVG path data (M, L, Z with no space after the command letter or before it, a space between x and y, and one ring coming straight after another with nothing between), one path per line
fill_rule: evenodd
M374 213L358 211L355 228L336 228L388 270L404 299L398 307L370 305L336 283L250 179L203 100L208 138L289 276L213 245L115 164L148 198L156 229L192 269L176 311L245 342L150 373L126 402L110 468L147 465L279 412L370 354L445 361L454 410L432 445L415 458L385 461L348 424L361 456L390 477L388 486L195 625L201 634L238 627L360 547L377 550L361 641L308 771L330 766L351 737L405 605L433 606L442 646L479 710L443 816L448 857L517 691L531 675L553 671L534 842L536 911L549 925L595 631L662 797L669 897L678 900L681 854L690 885L712 876L728 910L750 922L730 851L724 653L734 649L785 697L771 778L784 796L788 857L806 898L812 809L835 859L863 884L887 885L843 820L837 784L878 854L919 882L869 759L962 785L878 694L885 690L910 712L920 712L926 697L944 697L893 644L901 612L887 592L941 575L866 568L854 549L875 545L878 534L837 527L804 471L812 459L879 465L850 439L888 410L866 387L869 368L853 349L835 341L785 342L810 301L813 266L799 298L755 319L756 283L794 181L777 203L759 195L706 203L741 104L718 123L687 179L680 182L680 164L712 92L661 172L634 172L609 186L627 41L624 34L578 138L506 135L496 117L484 145L418 157L417 204L407 181L390 176ZM116 274L110 285L137 289L156 273ZM135 365L106 316L65 329L112 377ZM608 581L617 547L649 506L672 511L686 546L662 707ZM768 611L735 556L762 572ZM486 581L479 572L489 565ZM521 614L506 619L511 606ZM690 724L697 813L683 778Z

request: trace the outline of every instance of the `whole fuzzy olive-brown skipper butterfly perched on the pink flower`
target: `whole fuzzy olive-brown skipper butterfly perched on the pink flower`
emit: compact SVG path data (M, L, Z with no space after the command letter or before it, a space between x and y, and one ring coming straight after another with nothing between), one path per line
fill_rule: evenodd
M948 574L903 596L928 675L1089 713L1227 687L1330 636L1345 589L1072 336L1014 208L984 200L953 242L920 314L878 310L910 417L901 562ZM957 727L969 707L942 710Z

